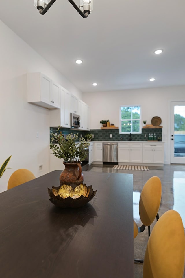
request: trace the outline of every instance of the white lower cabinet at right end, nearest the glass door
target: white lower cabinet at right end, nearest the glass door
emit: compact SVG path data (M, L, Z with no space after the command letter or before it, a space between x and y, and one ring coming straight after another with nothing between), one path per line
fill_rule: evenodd
M164 164L163 143L143 143L143 163Z

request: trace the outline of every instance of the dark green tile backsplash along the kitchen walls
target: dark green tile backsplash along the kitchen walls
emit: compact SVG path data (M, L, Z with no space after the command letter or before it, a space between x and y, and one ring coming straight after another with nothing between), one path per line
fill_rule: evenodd
M57 128L50 128L50 133L55 133ZM71 128L60 128L60 131L64 135L69 133L78 133L79 137L84 137L87 133L94 134L94 138L91 141L129 141L129 134L119 134L119 129L91 129L89 131L82 131L82 130L74 130ZM159 138L162 140L162 128L142 128L142 134L131 134L132 141L147 141L149 133L156 134L156 139ZM110 134L112 134L112 138L110 138ZM146 137L145 137L146 134Z

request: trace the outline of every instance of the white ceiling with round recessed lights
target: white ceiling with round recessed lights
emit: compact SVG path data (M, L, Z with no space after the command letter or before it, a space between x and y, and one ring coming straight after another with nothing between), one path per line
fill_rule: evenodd
M184 0L93 0L88 18L68 0L45 15L33 0L1 2L0 19L82 92L185 85Z

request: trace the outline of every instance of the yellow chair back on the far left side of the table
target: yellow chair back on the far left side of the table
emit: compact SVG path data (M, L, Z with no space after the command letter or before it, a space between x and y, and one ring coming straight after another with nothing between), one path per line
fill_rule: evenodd
M15 186L29 182L30 180L35 179L34 174L27 169L18 169L10 176L8 180L8 189L11 189Z

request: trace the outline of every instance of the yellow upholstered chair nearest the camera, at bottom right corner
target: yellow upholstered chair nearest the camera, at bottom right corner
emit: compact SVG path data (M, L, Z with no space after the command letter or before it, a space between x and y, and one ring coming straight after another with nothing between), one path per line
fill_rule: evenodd
M182 278L185 237L175 210L165 212L154 225L145 251L143 278Z

